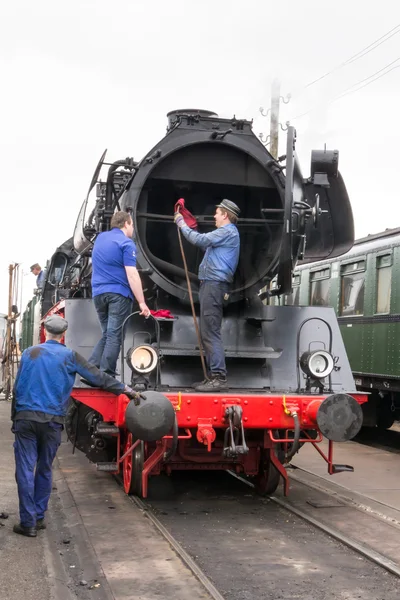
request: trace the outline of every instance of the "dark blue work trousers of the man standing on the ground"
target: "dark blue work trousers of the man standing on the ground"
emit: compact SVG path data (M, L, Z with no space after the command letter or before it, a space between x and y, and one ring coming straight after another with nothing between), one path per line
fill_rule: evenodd
M44 518L52 487L52 464L61 443L60 423L14 422L15 479L21 525Z

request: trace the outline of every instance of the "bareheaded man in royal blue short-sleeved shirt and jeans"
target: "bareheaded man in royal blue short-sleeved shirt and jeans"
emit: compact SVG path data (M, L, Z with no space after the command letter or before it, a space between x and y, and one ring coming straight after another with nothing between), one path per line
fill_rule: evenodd
M131 215L116 212L110 231L100 233L92 252L92 296L102 337L89 362L115 376L122 342L122 325L136 298L140 314L148 317L140 275L136 269L136 246L132 241Z

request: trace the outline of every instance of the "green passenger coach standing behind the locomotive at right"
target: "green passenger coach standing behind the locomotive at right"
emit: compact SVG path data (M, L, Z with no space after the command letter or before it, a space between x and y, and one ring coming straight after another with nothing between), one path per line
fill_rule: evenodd
M400 418L400 228L298 266L280 303L335 309L357 388L371 394L364 425L391 427Z

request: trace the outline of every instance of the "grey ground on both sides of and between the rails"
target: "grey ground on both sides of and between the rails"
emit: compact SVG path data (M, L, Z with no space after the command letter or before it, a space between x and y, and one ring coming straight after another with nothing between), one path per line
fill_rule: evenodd
M9 513L0 519L1 600L209 598L146 512L115 479L78 451L72 455L67 441L55 464L48 529L36 539L13 534L18 515L9 410L0 402L0 513ZM398 456L350 443L337 446L336 459L354 463L355 473L330 478L312 448L302 448L292 502L400 563ZM395 576L226 474L188 472L154 484L151 507L225 600L399 598ZM362 502L375 516L353 506Z

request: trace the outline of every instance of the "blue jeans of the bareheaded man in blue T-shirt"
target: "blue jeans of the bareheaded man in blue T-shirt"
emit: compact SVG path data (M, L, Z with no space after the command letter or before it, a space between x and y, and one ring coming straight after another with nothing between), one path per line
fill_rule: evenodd
M89 362L109 375L116 374L122 343L122 325L132 312L132 300L106 292L93 298L103 335L90 355Z

